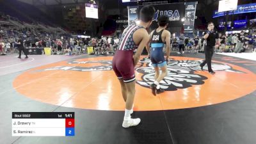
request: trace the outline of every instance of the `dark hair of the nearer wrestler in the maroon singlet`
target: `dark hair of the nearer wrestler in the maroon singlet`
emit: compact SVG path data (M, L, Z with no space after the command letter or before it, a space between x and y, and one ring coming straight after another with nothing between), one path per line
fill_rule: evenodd
M153 6L143 6L140 10L140 20L143 22L149 22L155 15L155 8Z

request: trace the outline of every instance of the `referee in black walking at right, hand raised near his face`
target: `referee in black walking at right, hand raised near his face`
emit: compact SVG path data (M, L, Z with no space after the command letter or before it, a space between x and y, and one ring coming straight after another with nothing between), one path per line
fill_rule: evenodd
M204 52L205 52L205 60L203 63L200 64L201 70L204 70L204 65L207 63L208 66L208 72L210 74L215 74L215 72L212 70L211 61L212 61L212 54L214 52L214 49L218 48L220 45L220 38L218 32L214 31L214 24L213 22L209 22L207 24L208 31L204 33L204 39L205 39L205 46L204 46ZM216 42L217 39L217 42Z

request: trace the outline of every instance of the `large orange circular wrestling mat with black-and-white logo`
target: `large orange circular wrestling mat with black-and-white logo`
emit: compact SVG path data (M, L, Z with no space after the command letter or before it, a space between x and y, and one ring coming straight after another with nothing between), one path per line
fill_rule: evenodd
M125 108L120 84L111 67L112 57L61 61L32 68L13 81L25 97L58 106L122 111ZM227 102L256 87L256 76L243 67L212 61L211 75L200 71L201 59L172 56L168 76L161 81L165 92L154 97L150 60L141 57L136 67L135 111L155 111L207 106ZM125 65L125 63L124 63Z

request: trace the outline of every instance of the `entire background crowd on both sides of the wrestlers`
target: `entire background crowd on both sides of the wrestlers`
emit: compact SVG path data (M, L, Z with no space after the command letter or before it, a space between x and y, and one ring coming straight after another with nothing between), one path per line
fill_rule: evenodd
M15 20L20 24L19 19L0 13L0 21ZM31 22L33 24L33 22ZM37 23L38 24L38 23ZM36 24L35 24L36 25ZM47 26L45 26L47 27ZM219 33L220 47L215 52L255 52L256 31L226 35ZM87 47L93 47L92 54L114 54L118 47L118 36L102 36L102 38L77 38L70 33L40 28L20 28L19 26L5 26L0 30L0 54L15 52L17 41L22 40L26 48L51 47L51 54L81 54L87 52ZM178 33L171 40L172 50L178 53L204 51L204 38L202 36L187 35ZM17 51L17 50L16 50Z

